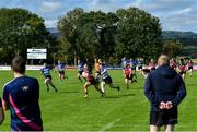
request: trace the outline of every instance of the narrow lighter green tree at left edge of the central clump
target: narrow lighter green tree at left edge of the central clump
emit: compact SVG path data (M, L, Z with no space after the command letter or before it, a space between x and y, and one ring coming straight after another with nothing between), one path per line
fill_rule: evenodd
M65 16L61 16L58 22L58 29L61 32L61 43L66 41L65 50L67 50L66 52L70 56L74 57L74 64L77 64L77 58L80 57L79 17L83 13L83 9L76 8Z

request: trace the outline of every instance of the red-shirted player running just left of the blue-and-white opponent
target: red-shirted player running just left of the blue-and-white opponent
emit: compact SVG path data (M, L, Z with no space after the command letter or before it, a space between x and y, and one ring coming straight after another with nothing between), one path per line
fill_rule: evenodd
M88 87L91 85L93 85L95 87L95 89L102 94L102 96L104 95L104 93L99 88L97 82L96 82L95 77L92 75L92 72L89 70L88 64L84 64L83 76L86 79L86 82L83 85L84 98L86 98L89 96Z

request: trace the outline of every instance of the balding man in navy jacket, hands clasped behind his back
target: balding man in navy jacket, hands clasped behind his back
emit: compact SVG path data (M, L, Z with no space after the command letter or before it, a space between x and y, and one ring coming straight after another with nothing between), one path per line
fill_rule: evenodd
M160 131L165 125L165 131L172 132L177 123L177 106L186 96L186 88L182 76L171 69L167 56L160 56L158 65L144 84L144 95L151 103L150 131Z

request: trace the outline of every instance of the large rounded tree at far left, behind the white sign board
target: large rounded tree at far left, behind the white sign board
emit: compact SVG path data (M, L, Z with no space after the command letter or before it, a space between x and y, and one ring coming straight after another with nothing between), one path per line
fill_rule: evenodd
M26 49L32 47L47 48L50 36L44 20L24 9L0 9L0 48L12 52L9 62L15 55L26 57Z

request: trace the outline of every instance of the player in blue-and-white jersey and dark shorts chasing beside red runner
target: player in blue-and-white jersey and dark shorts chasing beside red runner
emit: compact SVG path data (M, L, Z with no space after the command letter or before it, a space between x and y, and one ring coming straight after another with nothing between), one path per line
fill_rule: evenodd
M114 86L112 77L107 73L107 69L105 68L104 64L101 64L101 75L102 75L102 82L101 82L101 89L103 93L105 93L105 84L108 84L111 88L117 88L118 91L120 89L119 86Z

